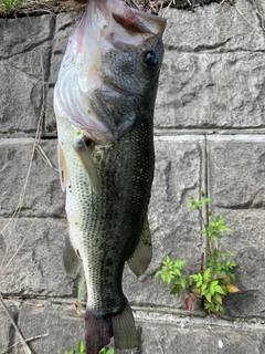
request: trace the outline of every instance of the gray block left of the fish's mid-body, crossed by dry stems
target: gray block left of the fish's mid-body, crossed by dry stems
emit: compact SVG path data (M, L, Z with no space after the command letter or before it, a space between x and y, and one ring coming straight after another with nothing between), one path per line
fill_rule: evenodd
M4 139L1 150L0 216L10 217L19 205L25 184L34 139ZM41 146L54 167L57 166L56 140L41 142ZM50 167L35 150L21 206L22 217L64 217L64 199L59 173Z

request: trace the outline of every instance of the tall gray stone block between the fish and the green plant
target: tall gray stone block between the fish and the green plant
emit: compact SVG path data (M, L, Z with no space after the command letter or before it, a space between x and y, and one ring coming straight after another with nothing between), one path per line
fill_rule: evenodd
M187 271L201 266L202 239L198 214L187 209L189 196L199 197L203 185L203 139L160 138L156 142L156 171L149 207L153 241L152 261L137 279L125 270L124 289L134 304L183 308L182 299L170 295L170 288L153 279L166 254L188 261Z

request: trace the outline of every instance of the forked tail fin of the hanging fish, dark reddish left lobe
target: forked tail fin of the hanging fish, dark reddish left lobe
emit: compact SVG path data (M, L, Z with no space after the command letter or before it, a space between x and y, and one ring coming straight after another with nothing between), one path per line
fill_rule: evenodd
M86 354L98 354L113 336L116 348L138 345L135 320L127 300L124 311L108 319L97 317L86 309L85 322Z

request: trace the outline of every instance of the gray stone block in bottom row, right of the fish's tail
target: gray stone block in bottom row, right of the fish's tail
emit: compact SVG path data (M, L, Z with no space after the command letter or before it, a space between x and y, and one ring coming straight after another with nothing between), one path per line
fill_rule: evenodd
M142 354L261 354L264 332L206 326L142 323Z

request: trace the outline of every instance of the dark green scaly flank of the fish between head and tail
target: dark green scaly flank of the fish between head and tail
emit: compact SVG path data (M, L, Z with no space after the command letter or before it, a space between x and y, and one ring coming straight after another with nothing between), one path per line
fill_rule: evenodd
M96 195L81 177L80 189L86 188L81 230L88 260L88 303L98 315L108 316L123 310L124 263L138 243L150 198L151 127L148 122L138 122L114 144L96 146L93 158L102 192Z

